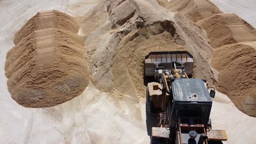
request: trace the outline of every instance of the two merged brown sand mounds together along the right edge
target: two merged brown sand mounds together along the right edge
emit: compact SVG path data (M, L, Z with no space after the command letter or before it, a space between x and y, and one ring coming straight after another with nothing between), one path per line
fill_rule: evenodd
M256 117L255 28L236 14L213 15L197 25L215 49L211 65L219 71L217 89L239 110Z

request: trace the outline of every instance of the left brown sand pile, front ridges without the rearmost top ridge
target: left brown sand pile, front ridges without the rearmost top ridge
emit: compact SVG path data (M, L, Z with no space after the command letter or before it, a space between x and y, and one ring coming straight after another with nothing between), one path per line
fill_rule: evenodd
M22 106L48 107L81 94L89 81L83 39L57 28L28 32L7 53L11 97Z

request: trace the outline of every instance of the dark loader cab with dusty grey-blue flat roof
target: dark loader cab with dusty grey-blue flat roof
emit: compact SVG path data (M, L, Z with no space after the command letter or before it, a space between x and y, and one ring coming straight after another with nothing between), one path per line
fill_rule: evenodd
M178 120L189 125L208 123L212 100L204 81L176 79L171 89L167 110L170 123Z

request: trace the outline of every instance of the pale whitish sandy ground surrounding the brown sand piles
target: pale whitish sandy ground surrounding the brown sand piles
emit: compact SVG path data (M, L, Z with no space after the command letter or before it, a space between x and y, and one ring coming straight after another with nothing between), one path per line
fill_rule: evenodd
M246 2L243 2L245 7L247 5L253 7L252 1L248 1L247 4ZM129 103L126 103L125 100L115 101L99 92L92 83L89 83L85 92L79 97L46 109L24 108L11 99L7 91L7 79L3 69L5 56L7 51L14 46L15 32L27 20L38 11L49 9L81 16L97 3L97 1L52 0L0 1L1 143L149 143L144 121L143 102L134 101L130 106L131 100ZM232 0L225 1L225 4L226 6L223 5L223 7L231 7ZM237 7L241 8L242 6L238 5ZM225 11L222 7L219 8ZM81 11L83 14L80 13ZM242 13L241 10L241 14L246 15L247 18L239 14L240 12L237 14L252 23L253 20L255 22L255 16L252 15L256 13L255 11L254 9L254 13L246 15L247 12ZM231 11L225 12L230 13ZM255 24L252 23L252 25L255 27ZM127 99L129 99L128 96ZM256 118L240 112L224 94L217 93L213 101L211 113L213 129L227 131L229 140L225 143L256 142L256 138L253 136L256 133L254 126ZM121 103L123 107L116 107L114 103ZM141 109L141 118L130 117L134 107Z

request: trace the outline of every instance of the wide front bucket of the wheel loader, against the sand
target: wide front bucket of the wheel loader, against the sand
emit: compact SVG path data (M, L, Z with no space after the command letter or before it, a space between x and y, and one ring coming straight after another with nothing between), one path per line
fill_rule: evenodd
M174 69L173 63L177 67L184 65L187 75L193 72L193 56L188 51L164 51L150 52L144 60L144 76L155 76L156 68Z

